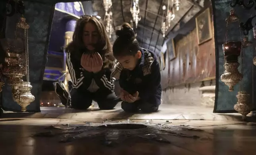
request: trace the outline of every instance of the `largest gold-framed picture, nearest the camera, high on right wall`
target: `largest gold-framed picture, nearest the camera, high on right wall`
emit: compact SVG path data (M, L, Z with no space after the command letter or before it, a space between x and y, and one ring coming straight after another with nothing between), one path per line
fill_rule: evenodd
M207 8L196 17L196 34L198 45L211 40L212 28L210 8Z

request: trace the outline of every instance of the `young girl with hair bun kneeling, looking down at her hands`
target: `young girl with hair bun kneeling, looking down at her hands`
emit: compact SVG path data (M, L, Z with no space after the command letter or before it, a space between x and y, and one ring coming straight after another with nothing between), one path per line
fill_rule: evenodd
M119 79L125 112L156 112L161 104L161 74L156 55L140 47L128 23L116 30L113 55L118 60L112 77Z

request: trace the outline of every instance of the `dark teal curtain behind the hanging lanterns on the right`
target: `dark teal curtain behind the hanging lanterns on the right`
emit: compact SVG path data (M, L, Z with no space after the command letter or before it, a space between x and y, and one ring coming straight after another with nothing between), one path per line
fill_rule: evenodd
M229 15L231 9L230 3L232 0L212 0L213 7L213 22L214 22L214 37L215 37L215 55L216 55L216 90L215 90L215 113L230 113L236 112L234 110L234 105L237 103L237 92L239 91L239 84L234 87L233 92L228 91L228 86L225 85L220 79L221 74L223 74L223 49L222 44L225 42L226 33L226 22L225 19ZM235 13L240 18L240 22L245 23L249 17L256 15L254 8L250 10L245 10L241 6L235 7ZM243 32L242 32L243 33ZM244 35L242 34L242 37ZM248 34L248 40L253 39L252 30ZM228 41L240 41L240 33L238 29L238 23L229 24ZM243 77L243 89L249 93L252 100L255 100L255 95L252 90L256 90L255 84L252 83L252 78L255 77L255 66L252 63L253 53L255 50L253 47L247 47L244 49L244 77ZM240 58L240 57L239 57ZM240 62L239 62L240 63ZM241 64L240 64L241 66ZM240 67L239 67L240 68ZM252 72L252 69L254 71ZM239 69L240 70L240 69ZM254 109L256 105L254 104Z

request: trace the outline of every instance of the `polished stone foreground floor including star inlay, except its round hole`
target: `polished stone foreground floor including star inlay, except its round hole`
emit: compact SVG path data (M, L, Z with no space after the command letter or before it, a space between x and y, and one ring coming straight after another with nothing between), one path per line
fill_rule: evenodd
M97 127L116 123L147 128ZM2 118L0 154L253 155L255 129L256 123L218 120Z

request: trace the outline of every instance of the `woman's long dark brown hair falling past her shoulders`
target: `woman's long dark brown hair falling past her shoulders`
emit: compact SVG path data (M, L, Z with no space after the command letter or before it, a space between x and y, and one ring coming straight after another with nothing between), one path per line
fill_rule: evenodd
M81 17L81 19L78 19L73 34L73 41L67 45L66 52L78 52L77 54L80 55L79 53L81 53L81 51L87 50L83 43L83 28L88 22L93 23L97 27L99 33L99 41L95 47L96 51L101 55L105 63L107 61L113 62L114 58L112 57L112 46L107 35L106 28L101 19L98 19L96 16L85 15Z

